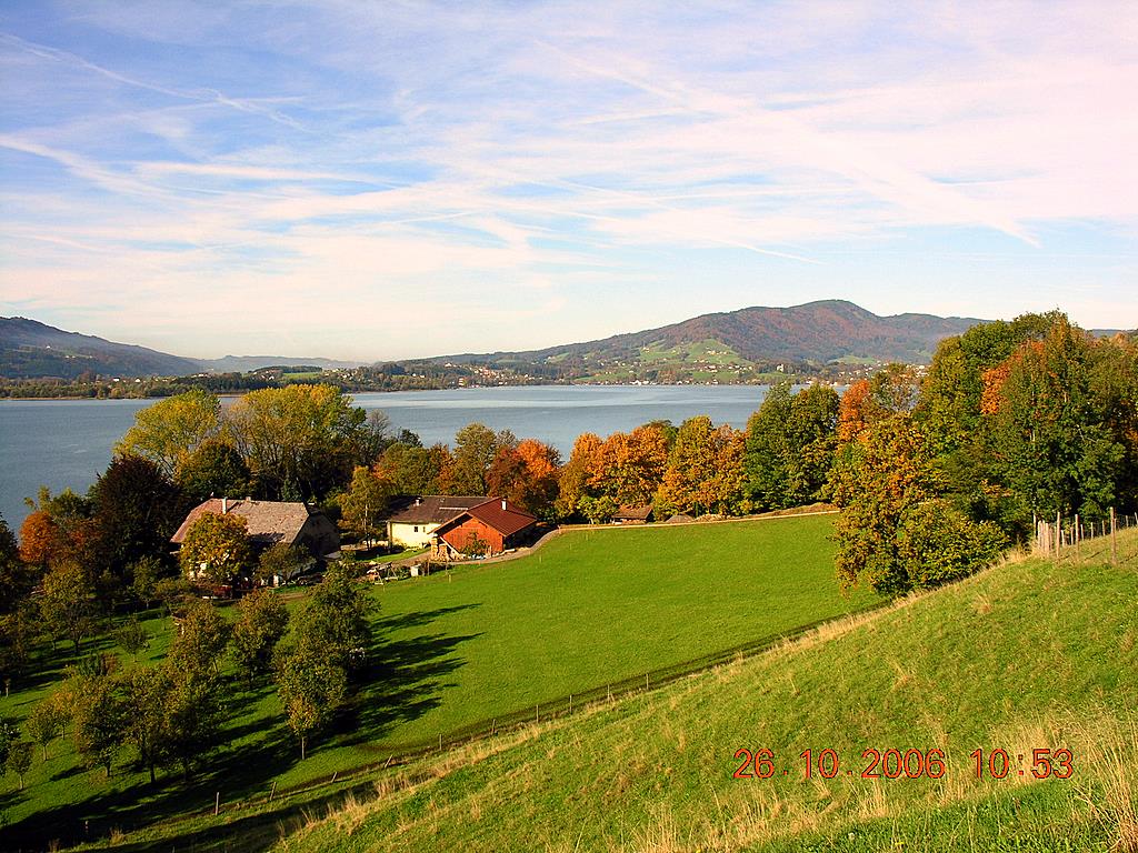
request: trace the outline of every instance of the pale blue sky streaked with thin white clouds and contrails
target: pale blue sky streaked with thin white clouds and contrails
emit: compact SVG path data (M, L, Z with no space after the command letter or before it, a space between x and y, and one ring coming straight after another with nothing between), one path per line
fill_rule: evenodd
M360 359L827 298L1135 328L1136 33L1129 1L8 0L0 313Z

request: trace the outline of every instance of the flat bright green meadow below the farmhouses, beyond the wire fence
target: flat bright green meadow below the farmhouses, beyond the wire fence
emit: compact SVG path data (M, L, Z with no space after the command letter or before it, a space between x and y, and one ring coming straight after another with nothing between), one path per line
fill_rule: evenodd
M511 715L561 710L569 694L653 671L699 665L874 603L846 601L833 578L832 516L571 531L528 557L372 587L380 603L378 665L337 730L298 761L273 690L239 690L231 746L188 785L146 786L123 755L110 779L77 767L66 740L15 777L0 800L17 838L91 837L212 810ZM168 623L149 623L168 643ZM109 644L102 643L109 648ZM27 689L0 699L19 720L69 654L43 657ZM89 821L89 823L86 823ZM57 835L52 835L56 833ZM0 843L0 847L5 846Z

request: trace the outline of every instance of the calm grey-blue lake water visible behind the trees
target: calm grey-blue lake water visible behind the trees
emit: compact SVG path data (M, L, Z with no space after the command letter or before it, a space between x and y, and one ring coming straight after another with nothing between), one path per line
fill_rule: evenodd
M358 394L355 403L386 412L396 430L419 433L424 445L452 444L459 429L478 421L546 441L568 458L583 432L603 438L694 415L743 426L766 391L765 386L549 386ZM27 515L24 498L40 486L52 494L66 487L85 491L110 462L134 413L155 401L0 400L0 513L13 530Z

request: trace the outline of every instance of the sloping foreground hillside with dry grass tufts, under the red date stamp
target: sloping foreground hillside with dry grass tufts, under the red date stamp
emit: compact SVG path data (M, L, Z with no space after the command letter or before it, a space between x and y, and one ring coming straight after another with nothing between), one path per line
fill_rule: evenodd
M1138 850L1138 537L1120 540L1118 566L1102 546L1007 564L421 762L279 850ZM741 747L772 750L774 776L734 779ZM827 747L839 775L805 780L799 754ZM867 748L947 769L863 779ZM978 779L976 748L1006 750L1007 778ZM1071 778L1034 779L1037 748L1070 750Z

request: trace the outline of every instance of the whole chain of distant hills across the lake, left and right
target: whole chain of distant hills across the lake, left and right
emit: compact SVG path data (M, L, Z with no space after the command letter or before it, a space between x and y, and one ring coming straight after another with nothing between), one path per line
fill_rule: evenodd
M747 379L780 364L813 368L835 362L926 364L941 340L982 322L986 321L931 314L879 316L853 303L830 299L787 308L751 307L703 314L658 329L545 349L467 353L394 364L512 371L544 380L667 381L683 375L729 381ZM184 358L63 331L24 317L0 317L0 376L8 379L71 380L84 373L180 376L296 365L335 370L358 363L284 356Z

